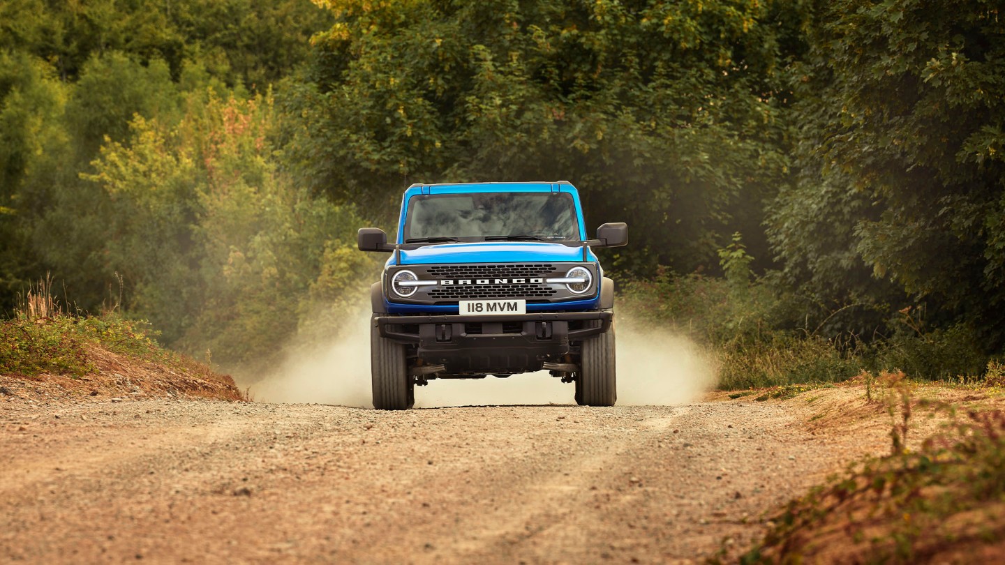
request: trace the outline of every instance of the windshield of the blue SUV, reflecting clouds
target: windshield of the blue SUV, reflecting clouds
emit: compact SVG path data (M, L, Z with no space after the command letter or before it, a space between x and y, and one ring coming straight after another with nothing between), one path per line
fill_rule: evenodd
M423 194L409 201L405 242L429 239L579 240L572 195L564 192Z

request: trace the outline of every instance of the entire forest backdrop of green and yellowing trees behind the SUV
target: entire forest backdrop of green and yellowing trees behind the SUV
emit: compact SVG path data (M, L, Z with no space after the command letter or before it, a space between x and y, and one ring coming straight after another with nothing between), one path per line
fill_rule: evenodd
M1005 350L991 0L3 0L0 311L224 368L346 331L413 182L569 180L724 386ZM12 338L13 339L13 338Z

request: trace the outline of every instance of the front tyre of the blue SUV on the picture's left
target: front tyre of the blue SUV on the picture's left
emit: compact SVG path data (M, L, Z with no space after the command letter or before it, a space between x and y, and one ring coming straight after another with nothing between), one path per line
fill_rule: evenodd
M405 346L380 337L377 322L370 322L370 378L374 408L407 410L415 404L415 381L408 375Z

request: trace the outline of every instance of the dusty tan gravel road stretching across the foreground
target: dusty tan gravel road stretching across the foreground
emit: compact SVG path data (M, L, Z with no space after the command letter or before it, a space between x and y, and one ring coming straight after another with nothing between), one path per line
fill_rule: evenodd
M0 404L0 562L700 562L878 445L806 421L749 399Z

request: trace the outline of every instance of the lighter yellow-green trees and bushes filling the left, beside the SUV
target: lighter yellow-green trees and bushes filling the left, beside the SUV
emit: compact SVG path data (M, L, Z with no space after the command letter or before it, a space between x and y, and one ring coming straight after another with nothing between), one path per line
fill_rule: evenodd
M267 93L331 22L308 0L0 5L0 308L51 270L83 312L121 280L126 316L222 362L332 330L372 259L345 251L352 206L283 172Z

